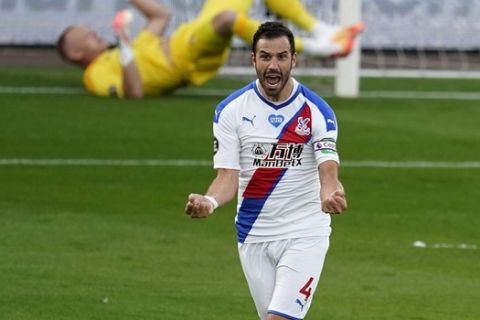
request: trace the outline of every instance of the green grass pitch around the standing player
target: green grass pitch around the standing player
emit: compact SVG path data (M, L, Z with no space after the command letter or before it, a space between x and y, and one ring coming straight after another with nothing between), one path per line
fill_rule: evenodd
M0 89L78 88L79 76L4 67ZM195 92L248 81L214 79ZM362 80L362 92L478 88L479 80ZM0 162L211 160L222 98L3 92ZM480 161L480 100L326 100L346 163ZM349 210L333 218L307 319L480 319L480 168L345 165L340 175ZM213 176L208 166L0 165L0 318L257 319L237 258L234 203L206 220L183 213L188 193L204 192Z

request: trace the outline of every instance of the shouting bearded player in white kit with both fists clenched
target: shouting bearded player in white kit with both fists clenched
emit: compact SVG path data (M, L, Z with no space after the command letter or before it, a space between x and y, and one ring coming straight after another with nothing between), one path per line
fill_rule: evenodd
M330 214L347 208L338 178L337 120L291 76L292 32L262 24L253 37L258 79L215 110L214 168L185 212L206 218L237 195L238 252L262 320L303 319L329 247Z

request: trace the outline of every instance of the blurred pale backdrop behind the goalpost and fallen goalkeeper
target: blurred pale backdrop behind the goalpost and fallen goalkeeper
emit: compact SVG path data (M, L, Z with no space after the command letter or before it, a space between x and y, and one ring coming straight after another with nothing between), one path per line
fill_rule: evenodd
M203 3L163 2L174 8L168 32L195 17ZM303 3L325 22L339 22L339 1ZM60 63L51 48L70 24L88 25L113 43L109 21L115 11L127 6L126 0L0 0L0 63L22 63L24 58ZM258 19L269 16L261 0L255 2L251 14ZM362 0L361 19L367 29L361 37L361 74L478 77L478 16L479 0ZM141 26L142 18L137 16L134 31ZM243 48L239 41L235 46ZM229 66L248 64L248 59L241 57L233 54ZM312 68L329 69L333 65L333 61L304 59L299 67L311 72Z

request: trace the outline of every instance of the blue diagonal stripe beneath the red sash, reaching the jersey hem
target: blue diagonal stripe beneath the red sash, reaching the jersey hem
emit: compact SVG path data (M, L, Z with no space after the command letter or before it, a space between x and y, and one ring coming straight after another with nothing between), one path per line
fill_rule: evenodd
M282 180L283 175L287 172L287 169L283 169L277 177L277 180L272 183L270 190L265 196L261 198L243 198L242 205L237 214L237 238L239 243L244 243L250 230L252 230L253 224L258 218L258 215L263 209L265 202L272 194L273 190L277 186L278 182Z

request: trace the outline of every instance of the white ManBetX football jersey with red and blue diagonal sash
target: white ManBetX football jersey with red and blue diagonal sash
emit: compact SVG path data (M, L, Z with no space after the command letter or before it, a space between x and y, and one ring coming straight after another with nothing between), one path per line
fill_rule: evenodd
M330 235L318 165L339 162L335 114L293 81L292 95L279 104L260 94L257 80L215 110L214 167L240 170L235 218L240 243Z

